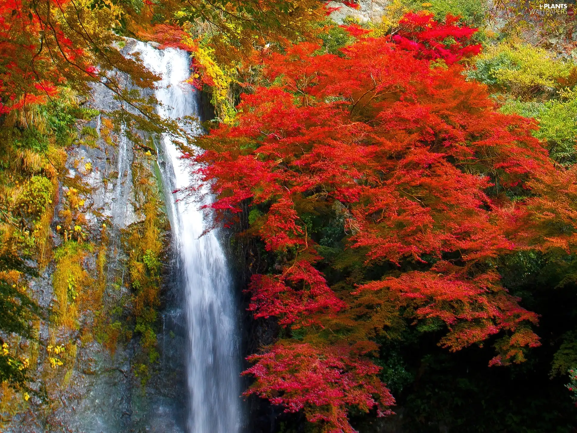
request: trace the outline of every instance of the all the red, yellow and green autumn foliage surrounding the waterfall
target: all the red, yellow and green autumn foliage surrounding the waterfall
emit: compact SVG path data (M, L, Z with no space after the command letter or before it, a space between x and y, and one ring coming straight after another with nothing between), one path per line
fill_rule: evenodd
M244 395L284 411L278 431L381 431L399 414L407 431L574 431L575 15L391 0L377 20L365 3L0 2L2 413L50 400L36 367L73 362L63 330L111 356L137 341L146 388L165 242L147 164L166 132L200 163L246 309L273 334ZM156 112L160 77L129 38L190 53L205 135ZM90 104L98 86L109 111ZM121 134L145 204L122 233L130 298L108 308L112 235L67 161ZM47 273L48 306L33 291Z

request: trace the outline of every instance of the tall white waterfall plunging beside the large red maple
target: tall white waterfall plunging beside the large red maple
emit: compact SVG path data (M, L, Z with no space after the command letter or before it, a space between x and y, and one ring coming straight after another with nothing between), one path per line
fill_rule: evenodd
M162 76L156 89L158 113L164 118L196 115L194 89L187 53L173 48L156 50L138 43L145 66ZM200 126L197 125L200 131ZM167 191L186 188L194 167L171 137L160 144L160 171ZM235 433L239 430L239 351L237 312L230 274L216 230L201 236L205 224L198 203L169 197L167 211L178 248L188 331L188 391L190 433Z

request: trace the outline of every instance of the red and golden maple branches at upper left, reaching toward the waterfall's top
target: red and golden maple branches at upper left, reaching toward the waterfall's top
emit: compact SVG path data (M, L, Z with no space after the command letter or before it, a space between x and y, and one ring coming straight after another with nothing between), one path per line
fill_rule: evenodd
M58 98L62 89L89 95L98 81L123 100L131 99L113 70L151 88L158 77L118 49L119 8L106 1L2 0L0 115Z

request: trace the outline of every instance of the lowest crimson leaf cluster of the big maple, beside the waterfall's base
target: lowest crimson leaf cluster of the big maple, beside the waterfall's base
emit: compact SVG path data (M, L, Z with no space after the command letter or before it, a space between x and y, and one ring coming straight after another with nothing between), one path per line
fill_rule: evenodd
M327 424L328 433L354 433L347 423L346 405L368 411L377 406L377 415L391 413L387 406L395 400L376 378L379 367L351 357L342 347L317 348L310 344L284 344L268 353L253 355L256 363L244 374L257 378L248 393L269 398L286 406L287 412L319 408L309 421Z

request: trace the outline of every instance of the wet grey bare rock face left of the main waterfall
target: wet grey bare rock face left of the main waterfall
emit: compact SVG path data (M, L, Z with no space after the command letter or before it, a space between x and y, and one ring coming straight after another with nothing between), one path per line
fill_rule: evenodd
M122 53L129 52L136 40L126 39ZM121 77L122 78L122 77ZM123 78L128 86L128 78ZM118 109L118 101L104 85L93 87L89 106L100 110ZM98 115L78 127L93 128L102 132L103 115ZM133 360L138 350L138 338L124 338L128 343L118 343L111 350L107 337L91 330L100 312L112 311L115 307L130 308L132 290L128 287L126 274L126 251L122 236L134 223L143 221L143 202L135 193L132 165L135 154L132 143L123 140L113 131L104 140L102 135L92 145L72 145L68 148L66 173L59 184L59 202L53 221L53 247L63 245L63 237L58 234L57 225L62 225L63 200L70 188L76 188L85 200L84 218L88 233L87 249L81 265L91 278L89 290L103 277L104 289L102 308L78 313L78 326L58 326L54 322L43 321L39 328L40 366L36 372L37 382L32 388L41 390L46 386L47 397L33 396L28 408L12 416L0 430L6 433L44 433L51 431L84 433L120 432L171 432L186 431L185 412L186 385L185 359L186 345L182 331L183 315L179 310L179 294L172 290L175 286L173 253L168 245L170 236L165 233L166 263L163 263L162 298L156 329L158 330L157 350L159 359L154 364L145 389L141 386L141 376L134 375ZM151 159L151 173L154 173ZM156 182L155 178L149 181ZM107 246L103 243L103 224L106 225ZM106 275L99 273L97 264L99 248L105 245ZM57 269L55 260L31 283L33 297L42 307L56 308L53 277ZM92 293L92 292L91 292ZM129 317L126 320L133 320ZM124 325L124 323L121 323ZM91 331L87 331L91 330ZM89 337L87 337L89 335ZM50 368L46 361L46 348L58 343L74 345L75 353L69 353L65 363ZM64 359L64 358L63 358Z

